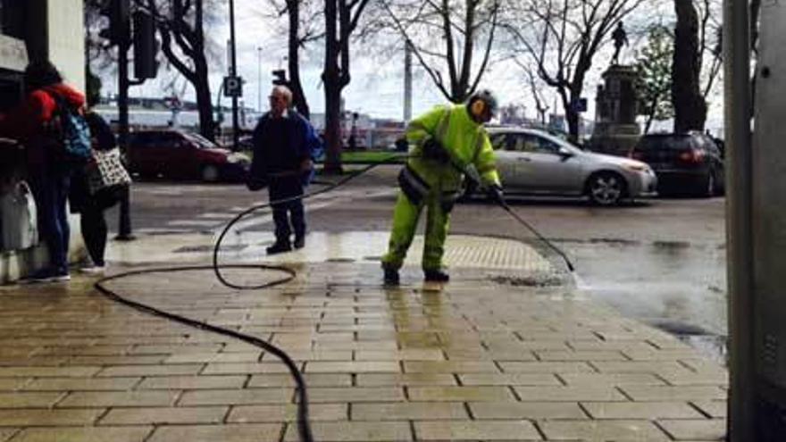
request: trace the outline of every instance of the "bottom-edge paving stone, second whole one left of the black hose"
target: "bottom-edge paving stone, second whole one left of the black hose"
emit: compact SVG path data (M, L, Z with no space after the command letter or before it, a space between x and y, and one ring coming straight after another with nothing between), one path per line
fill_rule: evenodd
M13 442L142 442L152 427L24 429Z

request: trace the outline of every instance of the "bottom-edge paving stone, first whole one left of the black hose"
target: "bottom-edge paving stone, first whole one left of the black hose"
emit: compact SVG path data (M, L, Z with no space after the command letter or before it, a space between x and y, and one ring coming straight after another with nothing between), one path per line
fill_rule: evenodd
M276 423L161 426L146 442L278 442L281 427Z

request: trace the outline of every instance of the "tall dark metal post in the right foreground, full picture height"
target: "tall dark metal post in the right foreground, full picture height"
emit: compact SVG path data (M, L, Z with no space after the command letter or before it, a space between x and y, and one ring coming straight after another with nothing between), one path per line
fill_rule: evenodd
M756 440L757 381L754 345L750 28L748 2L723 8L726 138L726 242L729 292L728 438Z

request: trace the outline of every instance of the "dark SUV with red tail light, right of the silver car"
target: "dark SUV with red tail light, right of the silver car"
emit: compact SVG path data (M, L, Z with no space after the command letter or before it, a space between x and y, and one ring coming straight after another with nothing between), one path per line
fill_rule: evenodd
M629 156L655 171L660 195L723 194L723 151L705 134L645 135Z

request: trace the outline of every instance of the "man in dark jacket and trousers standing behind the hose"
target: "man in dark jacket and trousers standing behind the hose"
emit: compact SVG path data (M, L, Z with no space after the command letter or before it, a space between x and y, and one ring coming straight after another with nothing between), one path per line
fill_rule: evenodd
M248 188L258 190L265 185L272 204L276 225L276 242L268 254L305 246L305 213L303 188L314 173L314 160L322 152L322 143L314 128L300 114L290 109L292 92L276 86L270 96L271 110L265 113L254 129L254 160L251 163ZM291 222L291 225L290 225Z

